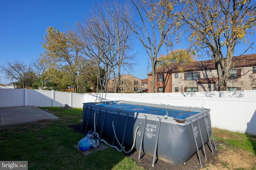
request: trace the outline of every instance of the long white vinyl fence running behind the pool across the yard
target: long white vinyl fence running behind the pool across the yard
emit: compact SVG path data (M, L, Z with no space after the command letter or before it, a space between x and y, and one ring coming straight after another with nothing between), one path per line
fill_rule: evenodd
M0 89L0 107L83 107L96 102L97 94L74 94L48 90ZM99 96L99 94L98 94ZM106 96L106 97L105 97ZM256 135L256 90L192 93L106 93L107 100L127 100L211 109L212 127Z

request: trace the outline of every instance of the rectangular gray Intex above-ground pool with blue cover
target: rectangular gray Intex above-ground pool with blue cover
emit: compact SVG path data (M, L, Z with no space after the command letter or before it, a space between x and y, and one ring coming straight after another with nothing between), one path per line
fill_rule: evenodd
M141 152L153 157L152 166L155 158L174 165L183 164L199 149L204 149L212 135L210 109L128 101L83 105L81 129L85 132L95 129L99 137L113 139L112 145L116 140L114 132L126 148L135 142L139 158ZM211 142L210 147L213 152ZM200 154L198 157L202 167Z

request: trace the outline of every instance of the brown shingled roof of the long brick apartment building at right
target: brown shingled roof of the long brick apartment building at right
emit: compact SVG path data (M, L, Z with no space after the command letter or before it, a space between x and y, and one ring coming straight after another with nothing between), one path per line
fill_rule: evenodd
M246 67L246 66L256 66L256 54L250 55L242 55L233 57L232 64L238 59L235 68L238 67ZM183 72L190 72L190 71L200 71L200 70L215 70L215 60L206 60L206 61L196 61L192 63L173 63L169 64L168 66L164 66L158 68L156 70L156 74L163 74L163 73L178 73L180 72L180 68L182 68ZM148 74L152 76L152 72Z

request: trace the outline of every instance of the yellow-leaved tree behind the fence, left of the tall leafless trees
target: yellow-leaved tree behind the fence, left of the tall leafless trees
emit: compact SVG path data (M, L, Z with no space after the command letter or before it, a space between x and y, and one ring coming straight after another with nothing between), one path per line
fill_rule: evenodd
M82 60L80 49L74 41L72 32L61 32L54 27L49 27L44 35L45 61L50 63L50 67L66 72L67 81L74 86L74 92L79 88L78 75ZM52 72L56 74L56 72ZM63 79L63 78L62 78Z

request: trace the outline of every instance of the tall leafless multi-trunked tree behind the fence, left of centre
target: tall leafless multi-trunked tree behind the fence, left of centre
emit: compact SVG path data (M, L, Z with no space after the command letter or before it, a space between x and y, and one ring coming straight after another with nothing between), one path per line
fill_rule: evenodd
M118 1L105 1L91 8L84 23L76 25L78 37L83 53L96 64L98 68L99 84L106 90L111 76L117 76L116 92L120 84L122 71L132 66L133 55L127 55L131 49L130 35L132 31L121 18L128 18L129 10ZM104 69L104 80L100 72Z

